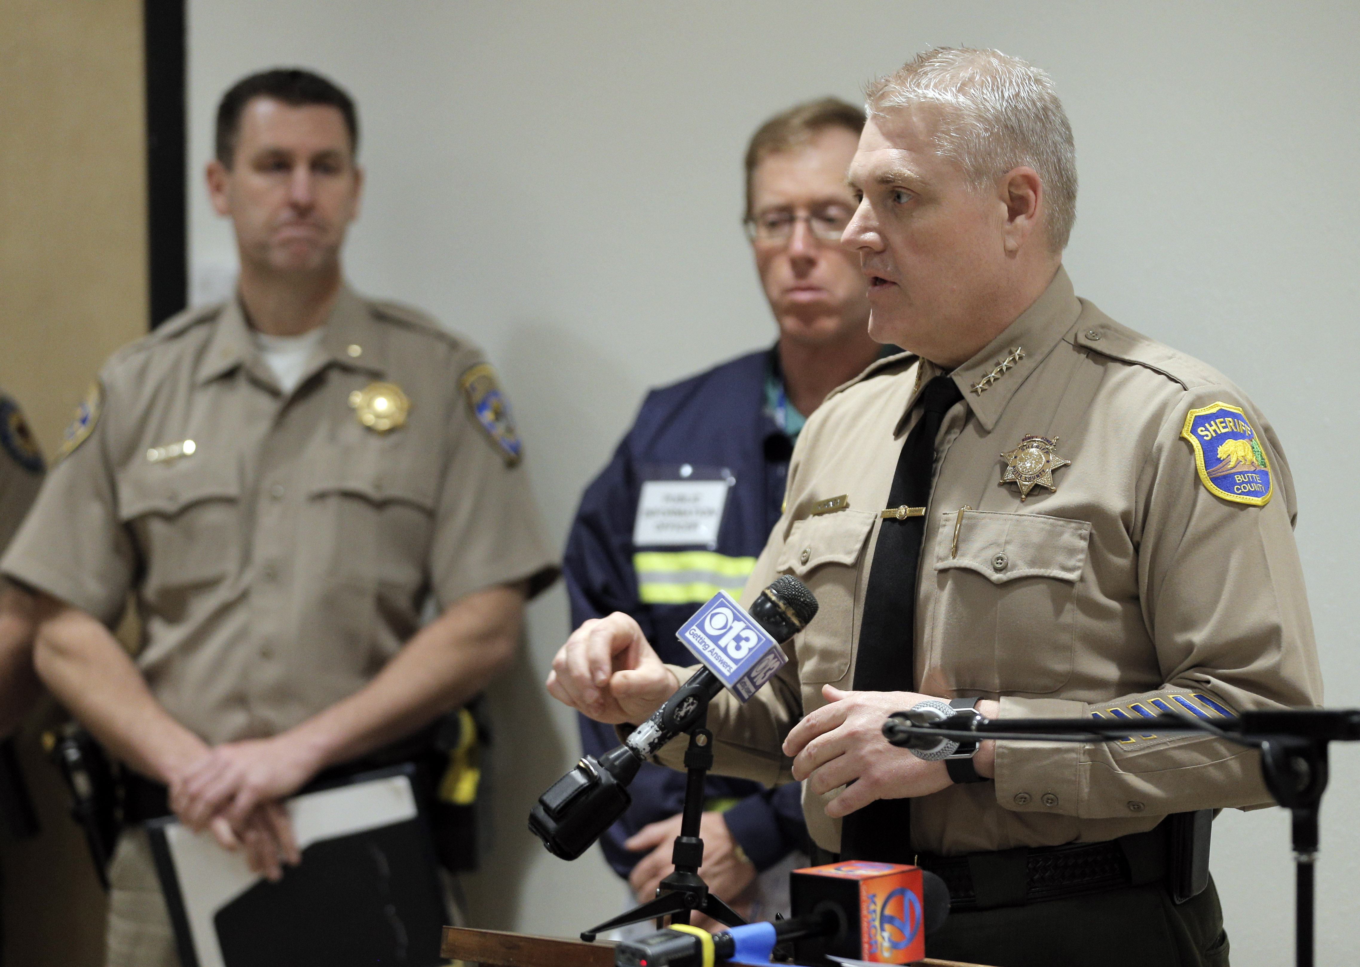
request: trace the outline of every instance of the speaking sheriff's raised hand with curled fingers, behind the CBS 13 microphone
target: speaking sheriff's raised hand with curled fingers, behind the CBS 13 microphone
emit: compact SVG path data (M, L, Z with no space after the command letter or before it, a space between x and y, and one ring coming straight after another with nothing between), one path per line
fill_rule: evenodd
M642 722L680 683L642 628L613 612L577 628L552 660L548 694L597 722Z

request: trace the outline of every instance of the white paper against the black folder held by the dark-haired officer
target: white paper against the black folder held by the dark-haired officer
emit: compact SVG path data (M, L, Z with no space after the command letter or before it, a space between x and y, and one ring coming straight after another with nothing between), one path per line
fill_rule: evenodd
M305 850L324 839L415 819L416 798L408 777L392 775L298 796L288 800L287 809L298 849ZM250 872L243 854L227 853L218 846L211 832L193 832L180 823L170 823L165 834L180 879L180 895L199 967L226 967L212 918L261 877Z

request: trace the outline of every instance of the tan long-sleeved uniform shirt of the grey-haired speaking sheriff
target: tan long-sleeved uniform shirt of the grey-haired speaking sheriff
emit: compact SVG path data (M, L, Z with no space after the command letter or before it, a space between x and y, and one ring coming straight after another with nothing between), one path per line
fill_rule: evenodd
M981 392L972 388L1013 359ZM745 707L710 713L717 768L789 781L789 729L849 688L880 518L913 422L937 375L896 356L828 398L798 438L781 517L747 585L794 574L820 611L790 662ZM918 691L1001 700L1001 717L1137 715L1186 698L1213 715L1321 702L1293 540L1293 481L1270 424L1223 375L1077 299L1065 271L993 344L952 374L918 575ZM1180 438L1190 409L1242 407L1274 475L1262 507L1212 495ZM998 486L1023 437L1058 438L1055 492ZM847 496L849 507L815 514ZM963 511L959 522L960 507ZM955 532L957 548L955 549ZM1195 699L1202 695L1208 702ZM1175 707L1183 707L1176 705ZM683 744L664 751L679 766ZM832 793L834 794L834 793ZM816 841L839 847L826 798L804 794ZM959 854L1106 841L1164 815L1269 804L1258 753L1216 739L998 743L996 781L913 804L913 843Z

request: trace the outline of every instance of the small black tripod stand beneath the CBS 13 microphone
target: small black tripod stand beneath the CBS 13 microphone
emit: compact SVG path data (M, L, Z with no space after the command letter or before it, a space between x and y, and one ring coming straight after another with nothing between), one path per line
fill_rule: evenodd
M699 836L699 824L703 820L704 779L709 770L713 768L713 733L706 728L709 724L709 698L702 691L696 691L692 700L699 703L698 711L680 713L685 718L692 714L694 719L692 725L685 729L690 734L690 747L684 753L684 812L680 816L680 835L676 836L670 853L675 872L657 887L656 899L635 906L632 910L607 919L589 930L582 930L581 938L586 943L593 941L596 934L630 923L641 923L645 919L656 919L658 930L665 926L662 923L665 917L670 917L673 923L688 923L691 910L707 914L726 926L745 923L732 907L718 899L715 894L709 892L709 884L699 876L699 866L703 865L703 839Z

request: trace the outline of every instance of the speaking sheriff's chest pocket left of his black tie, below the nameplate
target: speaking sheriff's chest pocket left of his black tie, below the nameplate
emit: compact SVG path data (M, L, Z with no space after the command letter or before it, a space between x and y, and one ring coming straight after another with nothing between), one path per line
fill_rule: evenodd
M779 552L781 574L793 574L817 597L817 616L794 638L804 684L840 681L850 671L854 594L874 514L840 510L794 521Z

